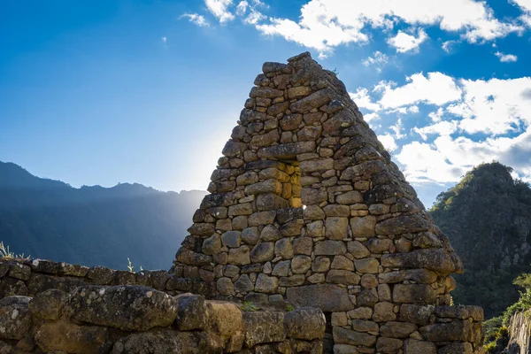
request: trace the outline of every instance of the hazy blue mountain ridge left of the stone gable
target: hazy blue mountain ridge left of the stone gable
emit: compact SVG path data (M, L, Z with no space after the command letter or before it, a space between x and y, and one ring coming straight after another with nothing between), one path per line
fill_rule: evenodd
M0 162L0 241L32 258L168 269L206 192L71 187Z

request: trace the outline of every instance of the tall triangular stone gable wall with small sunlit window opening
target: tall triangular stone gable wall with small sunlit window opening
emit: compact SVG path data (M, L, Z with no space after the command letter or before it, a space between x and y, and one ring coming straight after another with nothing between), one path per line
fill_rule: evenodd
M342 81L309 53L262 71L170 272L319 307L337 354L481 352L458 255Z

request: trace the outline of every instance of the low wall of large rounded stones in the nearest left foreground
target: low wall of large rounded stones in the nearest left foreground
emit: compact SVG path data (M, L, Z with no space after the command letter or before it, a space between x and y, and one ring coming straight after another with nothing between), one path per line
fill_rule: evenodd
M325 323L319 309L245 312L204 296L88 285L0 300L0 353L319 354Z

